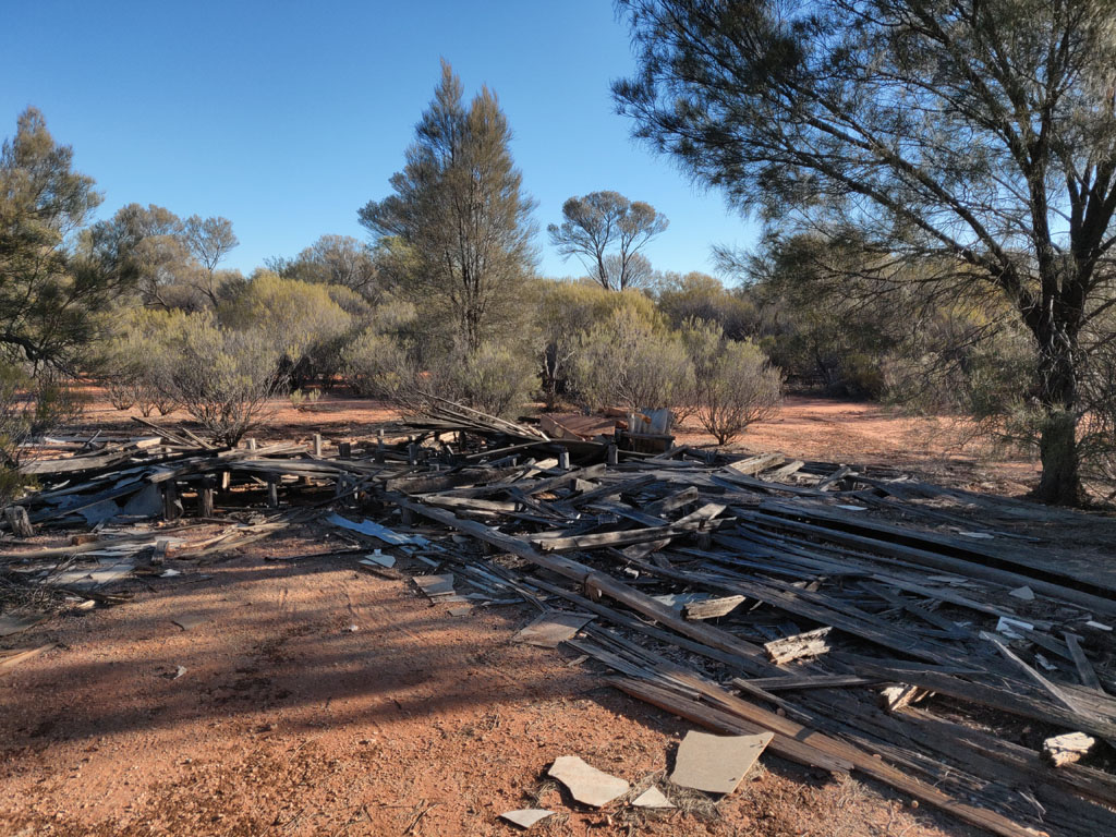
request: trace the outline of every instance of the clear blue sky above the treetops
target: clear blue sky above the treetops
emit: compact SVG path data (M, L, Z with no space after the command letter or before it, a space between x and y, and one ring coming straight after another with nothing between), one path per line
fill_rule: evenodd
M0 0L0 135L28 105L105 193L100 217L155 203L224 215L248 272L323 233L364 238L445 57L487 84L516 134L540 230L573 194L614 189L671 219L662 270L709 270L754 225L629 138L609 81L633 60L607 0L123 2ZM580 275L540 232L541 270Z

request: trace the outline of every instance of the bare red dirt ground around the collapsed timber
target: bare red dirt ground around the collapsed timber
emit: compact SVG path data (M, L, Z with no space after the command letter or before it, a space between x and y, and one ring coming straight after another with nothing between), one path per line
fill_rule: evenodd
M330 398L279 411L259 435L360 437L386 416ZM114 429L123 417L97 405L87 416ZM791 400L744 445L939 466L944 449L911 435L924 430L876 407ZM213 564L172 561L181 576L129 581L126 604L2 641L57 647L0 674L0 834L511 835L498 815L537 802L560 815L531 830L543 835L974 834L769 754L713 816L577 806L545 781L555 758L646 785L686 725L565 652L512 644L526 607L454 618L352 557L268 560L334 542L288 530ZM199 622L183 629L184 616Z

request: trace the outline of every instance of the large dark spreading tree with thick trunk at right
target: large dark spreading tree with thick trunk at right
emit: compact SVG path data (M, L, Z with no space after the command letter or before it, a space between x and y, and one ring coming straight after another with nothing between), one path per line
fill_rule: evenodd
M1081 375L1116 305L1112 2L618 8L639 68L614 94L639 137L785 229L1003 295L1033 339L1038 494L1076 502Z

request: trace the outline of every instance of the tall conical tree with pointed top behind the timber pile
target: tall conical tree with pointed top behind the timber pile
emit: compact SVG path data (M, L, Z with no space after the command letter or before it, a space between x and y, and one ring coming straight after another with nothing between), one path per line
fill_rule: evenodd
M377 243L391 239L406 252L402 290L441 305L473 350L521 315L517 297L535 262L535 202L521 193L510 141L496 95L484 87L465 108L443 60L406 164L392 176L394 194L358 213Z

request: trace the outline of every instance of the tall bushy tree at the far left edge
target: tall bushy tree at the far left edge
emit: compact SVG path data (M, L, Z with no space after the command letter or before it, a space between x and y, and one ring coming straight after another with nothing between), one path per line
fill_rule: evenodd
M100 203L42 114L28 108L0 148L0 357L75 371L98 311L132 287L125 248L87 224Z

